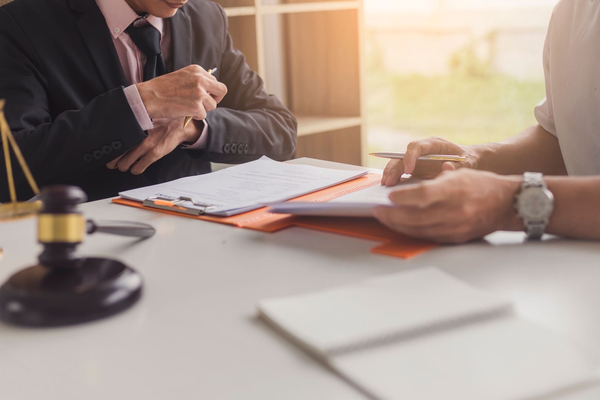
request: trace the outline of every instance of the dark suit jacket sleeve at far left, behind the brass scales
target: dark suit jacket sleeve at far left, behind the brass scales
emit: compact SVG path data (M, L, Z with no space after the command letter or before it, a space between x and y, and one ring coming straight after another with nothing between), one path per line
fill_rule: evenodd
M0 55L0 98L7 100L5 117L40 187L106 168L106 163L146 137L122 87L92 99L80 109L52 118L43 65L19 25L2 8ZM104 146L112 146L110 154L90 161L89 155L102 151ZM4 154L0 160L0 201L7 201ZM29 199L33 194L25 176L16 159L11 160L17 196L20 200Z

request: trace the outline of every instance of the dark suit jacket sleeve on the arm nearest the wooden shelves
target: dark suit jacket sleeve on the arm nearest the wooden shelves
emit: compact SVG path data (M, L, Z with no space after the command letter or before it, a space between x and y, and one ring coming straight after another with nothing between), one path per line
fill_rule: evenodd
M219 80L227 94L217 109L208 112L208 142L200 157L216 163L244 163L266 155L289 160L296 149L297 122L292 113L263 88L263 80L246 64L244 55L233 47L224 19L224 51ZM248 152L227 153L229 146L248 145ZM226 145L229 145L226 147Z

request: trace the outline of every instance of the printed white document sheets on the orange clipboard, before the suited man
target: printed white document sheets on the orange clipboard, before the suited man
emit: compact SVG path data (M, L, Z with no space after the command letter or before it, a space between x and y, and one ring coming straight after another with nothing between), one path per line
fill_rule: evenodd
M124 199L144 201L148 197L178 200L190 197L196 204L210 206L206 213L230 216L303 196L366 175L299 164L285 164L263 157L206 175L190 176L119 193ZM203 209L191 201L178 204Z

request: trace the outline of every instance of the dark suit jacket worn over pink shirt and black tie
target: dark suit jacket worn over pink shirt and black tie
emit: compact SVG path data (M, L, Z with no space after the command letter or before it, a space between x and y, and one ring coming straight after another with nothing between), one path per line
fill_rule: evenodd
M136 176L106 168L147 133L123 93L127 82L95 1L14 0L0 8L0 98L38 185L78 185L97 200L209 172L209 161L292 157L296 119L233 47L223 8L189 0L170 26L173 70L216 66L228 92L206 117L204 151L175 149ZM7 201L4 155L0 161L0 201ZM13 170L19 199L28 199L25 176Z

